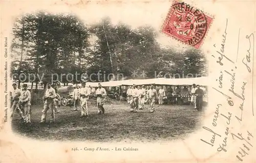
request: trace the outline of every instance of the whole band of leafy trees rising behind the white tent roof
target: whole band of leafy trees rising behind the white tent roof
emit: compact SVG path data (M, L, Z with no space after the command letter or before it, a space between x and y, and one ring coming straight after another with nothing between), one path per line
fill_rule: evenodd
M162 48L154 28L132 29L122 22L113 25L108 17L86 27L70 14L38 12L17 18L13 36L12 73L44 74L44 83L51 81L52 74L60 77L75 73L122 73L131 78L132 72L144 71L146 78L154 78L156 72L184 75L207 72L206 59L199 50L181 52ZM92 37L97 39L92 42ZM62 75L58 80L68 83L70 78ZM80 82L80 76L73 82Z

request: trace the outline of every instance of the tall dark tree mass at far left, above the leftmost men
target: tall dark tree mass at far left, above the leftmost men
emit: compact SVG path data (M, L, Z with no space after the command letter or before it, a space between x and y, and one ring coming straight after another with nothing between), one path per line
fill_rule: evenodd
M52 74L60 76L61 73L80 71L82 59L86 58L89 32L73 15L45 12L25 15L15 22L13 34L13 55L24 49L22 52L30 58L33 72L44 75L42 82L45 84L52 80ZM74 54L78 56L74 57ZM38 82L39 79L36 88Z

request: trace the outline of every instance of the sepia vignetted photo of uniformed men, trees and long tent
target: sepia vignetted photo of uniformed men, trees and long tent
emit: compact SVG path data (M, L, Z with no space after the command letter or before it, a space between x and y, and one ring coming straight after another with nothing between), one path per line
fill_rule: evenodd
M187 136L207 106L207 59L149 25L72 14L18 17L11 44L13 131L35 139L162 141ZM167 37L167 36L165 36ZM58 133L56 135L56 133Z

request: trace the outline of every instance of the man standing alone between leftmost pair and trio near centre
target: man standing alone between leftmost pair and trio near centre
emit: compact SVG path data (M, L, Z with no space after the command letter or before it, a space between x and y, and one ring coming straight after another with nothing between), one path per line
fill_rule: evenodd
M53 123L55 121L55 113L54 113L54 99L56 98L56 92L55 89L51 87L50 83L47 83L46 85L47 89L45 92L45 96L43 97L44 103L44 109L42 110L42 116L41 116L41 122L46 122L46 115L47 111L50 109L51 111L51 119L50 123Z

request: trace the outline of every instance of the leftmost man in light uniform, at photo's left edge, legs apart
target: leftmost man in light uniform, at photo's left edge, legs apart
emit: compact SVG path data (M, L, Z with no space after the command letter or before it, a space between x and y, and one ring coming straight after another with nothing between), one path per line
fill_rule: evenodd
M11 101L12 101L12 106L11 106L11 119L13 118L14 112L17 112L20 117L22 117L22 121L25 122L25 117L23 115L22 110L20 110L18 103L19 103L19 98L22 95L20 89L17 88L17 84L13 83L13 90L11 92Z

